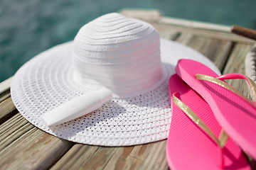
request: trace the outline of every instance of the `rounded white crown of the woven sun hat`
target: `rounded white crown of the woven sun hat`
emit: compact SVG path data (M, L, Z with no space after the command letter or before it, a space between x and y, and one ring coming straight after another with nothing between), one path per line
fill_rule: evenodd
M74 40L75 79L117 96L154 89L162 78L159 33L149 24L109 13L80 28Z

